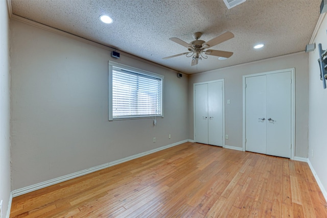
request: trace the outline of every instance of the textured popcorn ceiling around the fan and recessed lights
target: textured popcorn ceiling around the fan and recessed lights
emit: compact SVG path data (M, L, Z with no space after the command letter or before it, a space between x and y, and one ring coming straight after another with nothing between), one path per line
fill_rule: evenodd
M305 50L319 18L321 0L247 0L230 10L223 0L11 0L12 13L113 47L169 68L194 74ZM99 16L114 22L106 25ZM169 38L208 41L226 31L235 37L212 49L230 51L227 60L208 56L191 66L188 52ZM263 49L253 45L264 43Z

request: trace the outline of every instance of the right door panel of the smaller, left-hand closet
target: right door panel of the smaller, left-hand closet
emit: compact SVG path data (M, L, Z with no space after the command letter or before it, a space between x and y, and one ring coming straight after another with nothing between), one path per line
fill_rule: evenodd
M208 83L208 144L223 146L223 82Z

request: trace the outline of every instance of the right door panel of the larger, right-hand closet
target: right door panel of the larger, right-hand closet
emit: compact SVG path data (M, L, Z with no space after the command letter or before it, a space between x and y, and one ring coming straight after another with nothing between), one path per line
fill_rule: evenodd
M291 72L267 75L266 154L287 158L291 158L291 78Z

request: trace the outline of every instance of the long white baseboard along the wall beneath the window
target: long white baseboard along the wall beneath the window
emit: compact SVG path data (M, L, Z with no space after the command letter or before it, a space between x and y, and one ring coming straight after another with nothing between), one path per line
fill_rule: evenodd
M79 172L76 172L76 173L73 173L73 174L58 177L58 178L51 179L51 180L48 180L48 181L45 181L45 182L41 182L41 183L38 183L38 184L35 184L35 185L30 185L30 186L27 186L27 187L24 187L24 188L19 188L19 189L13 190L11 192L12 197L17 197L17 196L20 196L20 195L24 195L25 193L29 193L29 192L32 192L32 191L35 191L35 190L38 190L38 189L41 189L41 188L45 188L45 187L48 187L48 186L51 186L51 185L55 185L55 184L58 184L60 182L67 181L69 179L74 179L74 178L84 176L84 175L89 174L89 173L100 171L101 169L105 169L105 168L110 167L110 166L114 166L114 165L124 163L124 162L129 161L129 160L133 160L133 159L136 159L136 158L139 158L139 157L143 157L143 156L148 155L148 154L152 154L152 153L155 153L155 152L158 152L158 151L161 151L161 150L165 150L165 149L177 146L178 144L185 143L185 142L188 142L188 141L189 141L188 139L183 140L183 141L178 141L176 143L168 144L167 146L162 146L160 148L153 149L153 150L143 152L143 153L139 153L139 154L136 154L136 155L132 155L130 157L126 157L126 158L123 158L123 159L120 159L120 160L115 160L115 161L105 163L105 164L102 164L102 165L99 165L99 166L84 169L83 171L79 171Z

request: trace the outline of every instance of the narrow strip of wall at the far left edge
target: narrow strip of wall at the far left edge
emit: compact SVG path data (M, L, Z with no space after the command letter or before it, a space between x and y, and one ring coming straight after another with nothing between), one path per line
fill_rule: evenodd
M0 1L0 201L2 217L10 199L10 58L7 1Z

